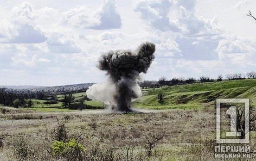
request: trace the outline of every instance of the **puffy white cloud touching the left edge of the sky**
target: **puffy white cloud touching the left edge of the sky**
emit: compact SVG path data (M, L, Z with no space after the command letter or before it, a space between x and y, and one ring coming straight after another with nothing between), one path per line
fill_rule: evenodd
M10 15L2 19L0 26L0 43L42 43L46 34L39 26L33 26L35 8L23 2L13 7Z

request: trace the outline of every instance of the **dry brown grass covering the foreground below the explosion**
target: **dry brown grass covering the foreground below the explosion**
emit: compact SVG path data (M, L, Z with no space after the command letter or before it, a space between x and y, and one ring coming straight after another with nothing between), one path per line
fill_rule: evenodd
M65 115L26 118L24 113L12 118L3 114L0 118L0 137L5 139L5 144L0 149L0 161L17 160L13 142L20 137L29 141L37 160L55 160L47 153L53 142L50 131L58 125L56 118L62 119ZM70 114L66 126L69 137L79 137L84 145L83 156L93 156L95 161L110 161L111 157L118 161L203 160L212 156L213 151L209 147L214 145L212 140L215 139L215 114L212 110L127 115ZM148 139L146 134L159 131L164 131L165 135L148 157L144 148ZM96 148L96 154L92 155Z

